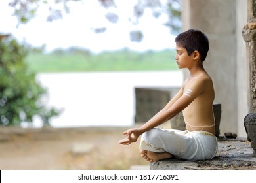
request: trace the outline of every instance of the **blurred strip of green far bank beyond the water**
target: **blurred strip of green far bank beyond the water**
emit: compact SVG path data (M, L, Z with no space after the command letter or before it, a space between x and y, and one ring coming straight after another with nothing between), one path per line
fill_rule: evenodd
M178 69L175 50L133 52L119 50L92 54L86 50L33 52L26 58L36 73L86 71L160 71Z

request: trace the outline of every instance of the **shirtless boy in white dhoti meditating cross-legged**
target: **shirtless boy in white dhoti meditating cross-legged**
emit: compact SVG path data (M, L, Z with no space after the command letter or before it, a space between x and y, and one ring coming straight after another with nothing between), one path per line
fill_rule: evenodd
M128 145L142 135L140 154L150 163L173 156L189 161L212 159L217 152L213 116L215 93L211 77L203 68L209 50L208 38L201 31L190 29L178 35L175 42L176 63L180 69L187 68L190 77L160 112L141 127L123 132L126 138L119 141ZM186 131L156 128L181 111Z

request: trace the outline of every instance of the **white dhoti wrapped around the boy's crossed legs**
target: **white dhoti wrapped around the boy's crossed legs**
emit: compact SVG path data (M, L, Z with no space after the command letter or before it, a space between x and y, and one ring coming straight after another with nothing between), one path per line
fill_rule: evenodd
M169 152L189 161L212 159L218 148L218 139L207 131L150 129L142 134L140 149Z

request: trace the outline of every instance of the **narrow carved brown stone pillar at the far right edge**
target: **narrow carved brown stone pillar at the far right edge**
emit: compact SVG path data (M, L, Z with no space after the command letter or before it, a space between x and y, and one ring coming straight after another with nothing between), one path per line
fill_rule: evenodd
M247 101L256 112L256 0L247 0L247 24L242 31L247 52Z

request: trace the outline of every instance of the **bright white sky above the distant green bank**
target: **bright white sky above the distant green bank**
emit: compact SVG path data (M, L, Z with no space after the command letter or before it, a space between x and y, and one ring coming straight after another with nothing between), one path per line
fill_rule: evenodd
M40 7L36 18L18 27L16 17L12 16L13 9L8 6L10 1L0 1L0 33L11 33L19 41L26 41L32 46L45 44L47 51L71 46L86 48L95 53L122 48L137 51L175 48L175 36L163 25L166 16L156 19L148 10L139 24L129 22L129 18L133 18L133 6L137 0L116 0L117 8L112 9L119 15L116 24L106 20L106 9L100 7L98 0L93 0L71 3L70 13L54 22L46 21L47 8ZM106 32L93 31L99 27L106 27ZM142 42L131 42L129 33L133 30L142 31Z

